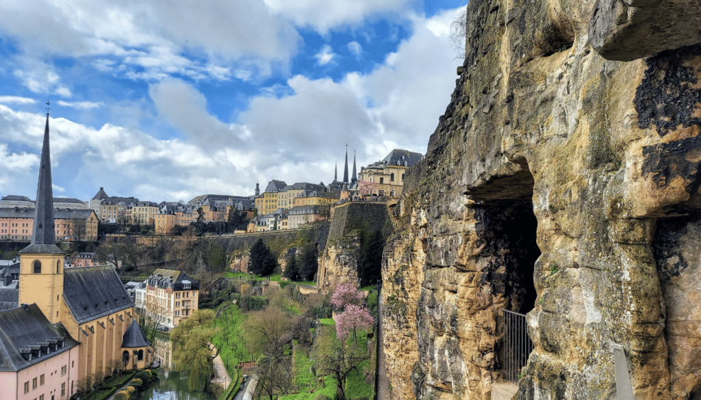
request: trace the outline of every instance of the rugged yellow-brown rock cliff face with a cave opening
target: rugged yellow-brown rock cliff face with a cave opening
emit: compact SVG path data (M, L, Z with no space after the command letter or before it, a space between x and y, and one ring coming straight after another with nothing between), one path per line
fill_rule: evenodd
M519 399L615 399L614 344L635 399L701 396L701 36L661 20L681 9L701 20L698 1L470 1L384 254L393 399L491 399L503 309L534 345Z

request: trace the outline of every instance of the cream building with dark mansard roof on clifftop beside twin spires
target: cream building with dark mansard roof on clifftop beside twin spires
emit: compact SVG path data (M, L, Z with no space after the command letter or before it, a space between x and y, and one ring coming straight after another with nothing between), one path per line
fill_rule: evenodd
M395 149L387 157L360 168L358 195L397 197L404 188L404 175L412 165L423 160L421 153Z

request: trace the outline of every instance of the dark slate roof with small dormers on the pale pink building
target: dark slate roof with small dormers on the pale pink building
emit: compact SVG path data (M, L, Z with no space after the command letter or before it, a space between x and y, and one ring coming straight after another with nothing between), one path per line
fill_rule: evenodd
M53 326L36 304L0 311L0 371L21 371L77 345L62 324Z

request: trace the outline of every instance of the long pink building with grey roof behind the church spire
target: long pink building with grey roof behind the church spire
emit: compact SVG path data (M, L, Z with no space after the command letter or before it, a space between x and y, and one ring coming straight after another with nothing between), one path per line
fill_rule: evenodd
M63 241L97 240L98 219L91 209L55 209L55 237ZM34 208L0 208L0 240L31 240Z

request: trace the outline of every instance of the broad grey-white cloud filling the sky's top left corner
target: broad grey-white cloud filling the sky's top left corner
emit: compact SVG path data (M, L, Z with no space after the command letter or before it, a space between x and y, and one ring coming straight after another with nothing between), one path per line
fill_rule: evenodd
M36 26L51 34L37 35ZM0 34L34 63L34 55L95 57L99 71L147 80L226 80L231 64L265 75L272 65L284 67L301 43L292 24L261 0L0 1ZM46 77L18 71L30 90L46 90ZM67 97L68 89L59 89Z

